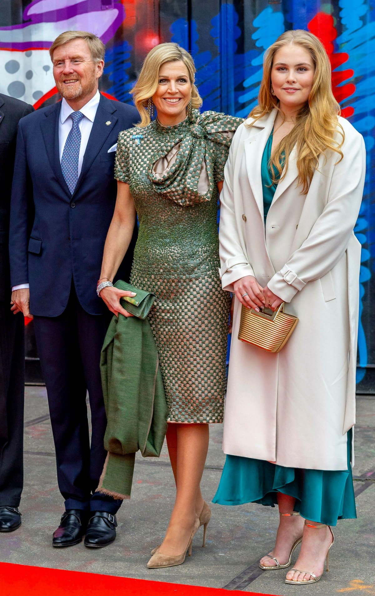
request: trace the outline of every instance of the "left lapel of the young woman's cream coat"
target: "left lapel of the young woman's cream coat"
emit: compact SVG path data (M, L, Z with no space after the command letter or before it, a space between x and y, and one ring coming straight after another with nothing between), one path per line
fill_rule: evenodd
M263 207L263 189L262 189L262 176L261 176L261 163L262 155L264 152L265 145L267 144L268 137L273 129L274 120L276 118L277 110L271 111L270 114L260 118L253 126L253 134L246 139L243 144L246 159L246 171L248 173L249 184L251 186L252 194L254 195L255 201L257 202L258 209L260 210L262 220L264 218L264 207ZM261 129L255 132L255 129ZM250 129L251 130L251 129Z

